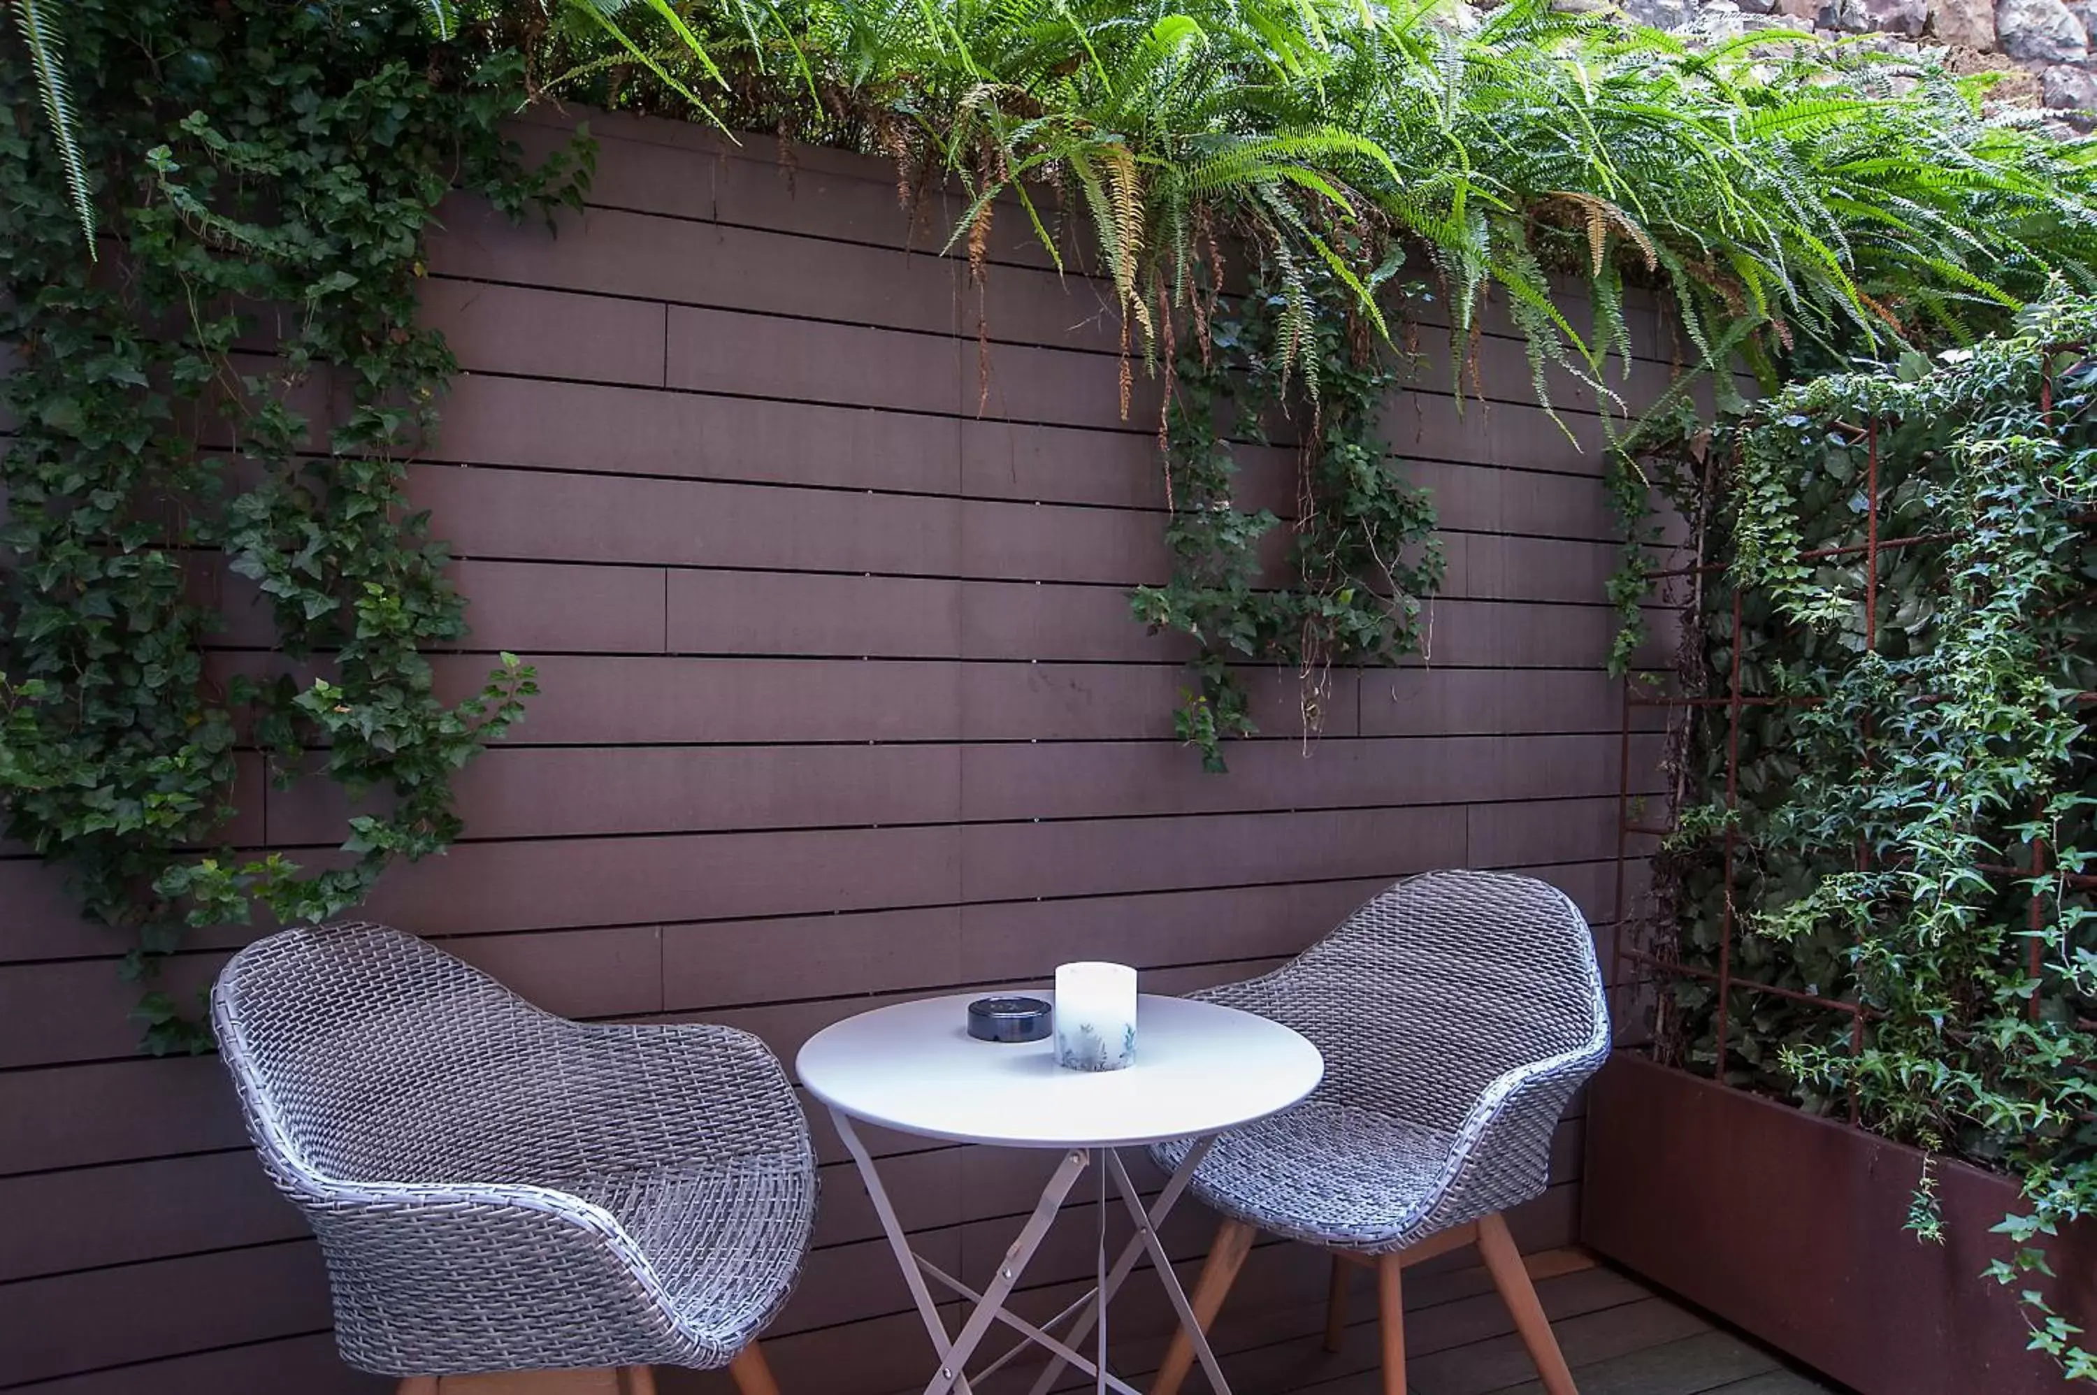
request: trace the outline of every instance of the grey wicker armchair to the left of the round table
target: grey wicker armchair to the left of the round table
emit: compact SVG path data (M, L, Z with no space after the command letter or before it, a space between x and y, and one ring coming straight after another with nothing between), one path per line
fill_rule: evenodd
M728 1366L776 1395L755 1338L807 1254L816 1156L755 1036L568 1022L384 925L258 940L212 1022L350 1366L417 1395Z

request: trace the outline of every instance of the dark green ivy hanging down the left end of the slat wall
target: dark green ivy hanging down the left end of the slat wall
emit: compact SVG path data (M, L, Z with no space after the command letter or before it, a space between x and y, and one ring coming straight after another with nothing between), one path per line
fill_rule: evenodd
M432 40L403 6L73 0L84 113L31 120L40 61L0 52L0 795L149 978L185 927L312 921L459 831L451 774L520 715L505 657L445 699L424 650L466 636L445 548L403 495L453 359L415 325L421 239L453 185L512 212L575 193L497 124L514 52ZM73 155L105 239L78 237ZM279 657L208 667L220 573L256 583ZM237 749L348 799L312 868L224 845ZM199 1047L149 994L147 1045Z

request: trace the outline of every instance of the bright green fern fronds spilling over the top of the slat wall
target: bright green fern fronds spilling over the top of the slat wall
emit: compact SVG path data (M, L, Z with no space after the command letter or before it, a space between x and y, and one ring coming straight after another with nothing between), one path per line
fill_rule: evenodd
M996 218L1025 218L1061 262L1057 224L1084 214L1124 321L1168 363L1170 317L1199 315L1199 269L1237 248L1298 327L1323 304L1313 269L1336 279L1327 310L1382 327L1369 287L1397 239L1460 348L1497 292L1539 394L1552 361L1606 380L1627 277L1671 292L1701 369L1743 346L1967 338L2047 269L2097 266L2097 147L1984 117L1988 80L1795 34L1690 50L1545 0L1483 19L1441 0L606 0L593 17L543 31L541 82L885 153L904 191L952 176L977 271ZM1587 329L1548 271L1590 292Z

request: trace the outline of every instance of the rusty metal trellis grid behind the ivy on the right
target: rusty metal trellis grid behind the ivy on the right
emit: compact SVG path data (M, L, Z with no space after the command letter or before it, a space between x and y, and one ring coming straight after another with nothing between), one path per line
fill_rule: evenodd
M2040 413L2045 420L2053 415L2053 365L2051 357L2059 350L2084 350L2087 346L2047 346L2045 367L2040 369ZM1862 428L1854 428L1841 422L1831 424L1831 428L1841 426L1843 430L1860 430L1866 443L1866 482L1864 482L1864 541L1847 543L1841 548L1814 548L1795 554L1797 562L1824 562L1833 558L1858 556L1864 560L1864 652L1873 654L1879 648L1879 562L1887 554L1902 552L1906 548L1917 548L1925 543L1954 541L1957 533L1917 533L1912 537L1879 537L1879 430L1881 420L1871 417ZM2084 516L2082 522L2091 522ZM1648 573L1650 581L1671 579L1671 577L1715 577L1726 571L1724 562L1703 562L1696 566L1673 566L1657 568ZM1684 621L1690 625L1703 625L1703 615L1692 615L1694 606L1701 606L1701 592L1692 589L1682 602ZM1713 1051L1713 1078L1726 1085L1726 1055L1728 1055L1728 1026L1730 1026L1730 1005L1734 992L1770 994L1778 999L1789 999L1793 1003L1806 1003L1833 1013L1850 1017L1850 1055L1852 1059L1864 1053L1864 1032L1866 1022L1879 1013L1862 1001L1833 999L1826 994L1806 992L1799 988L1785 988L1782 984L1768 984L1753 978L1741 978L1734 973L1732 965L1732 942L1734 942L1734 856L1738 852L1738 831L1732 818L1741 799L1741 715L1753 707L1789 707L1789 705L1816 705L1818 699L1812 696L1770 696L1770 694L1747 694L1741 690L1741 650L1745 627L1741 623L1743 608L1743 587L1732 585L1732 634L1730 634L1730 665L1728 665L1728 690L1726 696L1678 696L1678 694L1640 694L1636 692L1636 678L1625 675L1623 680L1623 717L1619 728L1619 780L1617 780L1617 879L1615 879L1615 925L1610 931L1610 959L1613 959L1613 992L1623 992L1627 988L1665 984L1669 980L1701 980L1715 984L1715 1051ZM1919 694L1915 701L1929 703L1942 701L1938 694ZM2078 694L2082 703L2097 703L2097 692ZM1722 871L1720 871L1720 942L1717 942L1717 969L1707 969L1701 965L1684 963L1680 950L1673 954L1655 954L1650 950L1625 944L1625 925L1629 915L1629 898L1625 889L1627 864L1631 858L1629 839L1644 837L1667 837L1673 833L1673 818L1680 810L1669 808L1667 827L1640 824L1631 820L1631 713L1640 707L1659 709L1726 709L1726 829L1722 841ZM1868 717L1866 717L1868 724ZM1871 730L1866 726L1864 741L1871 741ZM1862 759L1871 759L1871 751L1862 753ZM1858 839L1858 871L1868 871L1871 847ZM2047 866L2047 839L2032 837L2032 858L2028 866L2013 866L2009 862L1984 862L1975 871L1996 877L2028 877L2032 879L2032 896L2026 908L2026 923L2030 929L2042 929L2045 925L2045 879L2049 877ZM2097 875L2068 873L2063 868L2051 868L2051 879L2070 887L2097 887ZM1627 975L1627 965L1638 965L1644 969L1642 975ZM2026 944L2026 971L2032 982L2038 982L2045 969L2042 948L2038 936L2032 936ZM2030 1017L2036 1022L2040 1015L2040 994L2032 992L2026 1007ZM2084 1030L2097 1028L2097 1022L2078 1022ZM1850 1122L1858 1122L1858 1091L1852 1078L1850 1087Z

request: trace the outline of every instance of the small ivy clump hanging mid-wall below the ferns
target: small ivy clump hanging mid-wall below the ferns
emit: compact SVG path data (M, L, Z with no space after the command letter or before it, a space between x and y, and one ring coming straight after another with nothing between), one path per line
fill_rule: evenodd
M1214 298L1179 348L1162 430L1174 568L1164 585L1130 594L1149 629L1197 644L1174 734L1212 772L1227 770L1227 738L1256 732L1239 665L1294 667L1304 730L1317 732L1332 667L1415 652L1422 596L1443 575L1434 506L1405 482L1378 430L1399 380L1388 346L1346 308L1350 287L1338 277L1296 273L1306 294L1258 269L1248 294ZM1260 541L1281 518L1235 503L1231 453L1233 438L1264 443L1275 417L1300 432L1281 585L1260 564Z

